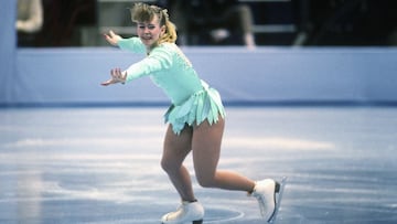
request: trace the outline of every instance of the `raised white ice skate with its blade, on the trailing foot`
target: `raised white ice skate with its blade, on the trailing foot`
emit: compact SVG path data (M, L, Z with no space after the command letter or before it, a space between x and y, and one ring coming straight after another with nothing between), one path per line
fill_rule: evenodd
M286 181L287 178L283 178L281 183L271 179L256 182L251 195L258 200L260 214L268 223L273 223L276 220Z

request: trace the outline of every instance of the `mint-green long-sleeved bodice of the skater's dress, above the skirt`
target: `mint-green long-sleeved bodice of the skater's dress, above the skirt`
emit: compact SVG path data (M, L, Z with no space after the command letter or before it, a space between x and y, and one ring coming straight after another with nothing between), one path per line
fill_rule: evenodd
M125 39L118 44L121 49L142 53L143 44L138 38ZM175 105L203 89L192 63L173 43L160 44L142 61L132 64L127 70L127 82L144 75L149 75Z

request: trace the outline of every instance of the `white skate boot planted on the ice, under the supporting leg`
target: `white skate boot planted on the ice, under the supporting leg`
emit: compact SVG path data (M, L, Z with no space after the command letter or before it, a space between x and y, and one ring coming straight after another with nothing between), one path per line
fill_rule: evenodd
M202 224L204 217L203 205L195 202L183 201L175 212L162 216L163 224Z

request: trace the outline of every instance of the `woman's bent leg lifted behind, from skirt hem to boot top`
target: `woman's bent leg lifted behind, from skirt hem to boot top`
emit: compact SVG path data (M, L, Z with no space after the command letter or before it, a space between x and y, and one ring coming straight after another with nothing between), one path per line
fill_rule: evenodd
M217 171L225 120L206 120L193 130L192 150L196 178L202 186L251 192L255 182L230 171Z

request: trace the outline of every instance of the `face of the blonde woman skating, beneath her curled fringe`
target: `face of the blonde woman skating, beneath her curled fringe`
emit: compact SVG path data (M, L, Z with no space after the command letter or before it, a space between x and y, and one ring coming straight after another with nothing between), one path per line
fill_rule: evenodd
M148 47L152 49L157 45L161 34L163 34L165 28L160 28L159 18L153 17L150 22L138 22L137 33L142 43Z

